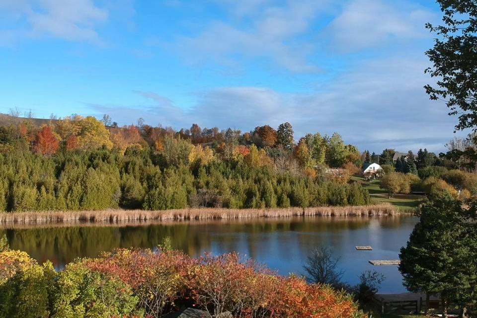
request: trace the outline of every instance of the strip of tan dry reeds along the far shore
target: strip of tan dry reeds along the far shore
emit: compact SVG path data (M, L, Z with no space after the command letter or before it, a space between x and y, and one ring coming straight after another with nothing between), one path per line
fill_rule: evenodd
M102 211L49 211L0 213L0 225L7 224L77 224L77 223L137 223L148 221L206 221L251 218L287 218L299 216L395 216L406 212L390 204L346 207L223 209L196 208L163 211L102 210Z

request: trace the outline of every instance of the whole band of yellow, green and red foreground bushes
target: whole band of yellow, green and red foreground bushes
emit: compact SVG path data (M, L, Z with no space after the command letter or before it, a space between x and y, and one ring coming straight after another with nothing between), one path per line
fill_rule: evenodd
M362 316L349 296L237 254L119 249L55 272L24 252L0 253L0 318L161 317L184 307L248 318Z

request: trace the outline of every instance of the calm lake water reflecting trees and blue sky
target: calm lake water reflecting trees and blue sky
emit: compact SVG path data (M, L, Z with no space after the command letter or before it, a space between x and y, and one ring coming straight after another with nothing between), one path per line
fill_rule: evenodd
M307 217L213 222L176 222L149 225L1 229L10 247L28 252L39 262L51 260L56 268L79 256L94 257L117 247L154 247L170 237L172 246L191 256L204 252L238 251L265 263L279 274L303 273L302 265L313 248L328 245L341 256L343 281L358 282L364 270L386 276L381 293L405 292L397 266L373 266L369 259L398 259L415 217ZM372 251L357 251L371 245Z

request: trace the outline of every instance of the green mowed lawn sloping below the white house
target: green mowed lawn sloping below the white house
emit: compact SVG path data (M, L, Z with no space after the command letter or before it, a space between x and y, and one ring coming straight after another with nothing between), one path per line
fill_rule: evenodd
M379 179L366 181L361 176L352 176L351 180L361 183L361 185L369 191L371 198L376 203L391 203L393 206L401 210L413 210L419 206L422 200L425 199L422 195L415 194L395 194L393 198L388 197L388 192L381 189Z

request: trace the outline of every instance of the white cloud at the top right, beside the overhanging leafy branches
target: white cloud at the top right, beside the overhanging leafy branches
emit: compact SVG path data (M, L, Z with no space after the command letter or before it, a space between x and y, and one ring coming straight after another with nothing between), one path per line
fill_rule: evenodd
M325 33L339 51L353 52L384 42L428 36L424 24L434 15L407 1L351 0Z

